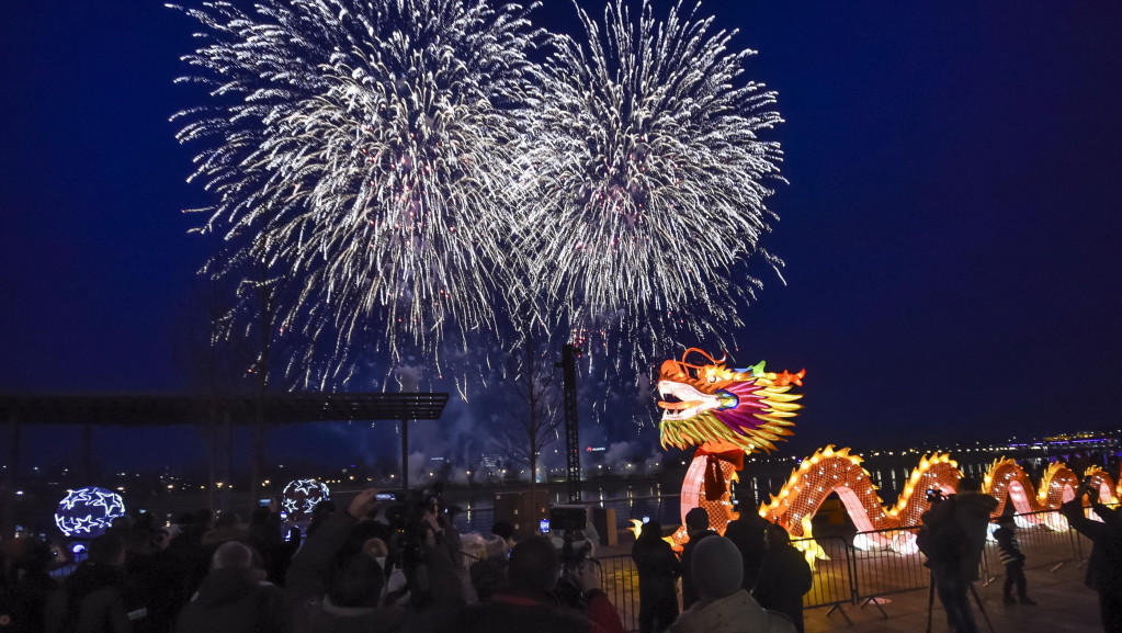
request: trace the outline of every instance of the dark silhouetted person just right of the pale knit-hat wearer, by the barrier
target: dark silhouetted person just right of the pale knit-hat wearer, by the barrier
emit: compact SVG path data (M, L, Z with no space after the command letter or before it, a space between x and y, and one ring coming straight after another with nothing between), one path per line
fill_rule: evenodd
M773 523L765 534L767 551L752 596L760 606L791 618L795 630L802 633L802 596L810 590L815 577L802 552L791 545L787 530Z

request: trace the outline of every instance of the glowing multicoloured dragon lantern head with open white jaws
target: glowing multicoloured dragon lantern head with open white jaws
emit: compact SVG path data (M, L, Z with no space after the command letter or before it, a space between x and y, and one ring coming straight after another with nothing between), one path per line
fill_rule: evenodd
M699 354L709 363L687 363L690 354ZM659 406L663 409L659 423L662 447L684 449L687 444L732 443L746 452L771 451L772 443L790 435L789 419L802 406L794 401L801 394L790 394L791 385L802 386L807 375L764 371L761 360L753 367L730 369L725 360L690 348L681 360L666 360L659 376ZM672 398L672 400L670 400Z

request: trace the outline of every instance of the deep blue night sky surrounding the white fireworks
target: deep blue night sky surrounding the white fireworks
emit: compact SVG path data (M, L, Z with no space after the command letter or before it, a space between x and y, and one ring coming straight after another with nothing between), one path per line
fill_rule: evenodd
M763 242L787 284L749 266L766 285L730 354L807 369L792 452L1119 425L1122 3L700 12L760 52L747 76L779 91L787 121L772 138L790 184ZM548 0L535 15L571 13ZM157 2L0 3L0 392L184 388L176 341L213 248L187 233L203 217L181 210L210 201L184 182L196 148L168 122L200 104L173 85L194 29ZM416 446L447 447L487 415L473 406L450 406ZM587 426L590 443L656 442L629 413ZM137 447L104 433L114 459ZM349 433L289 430L270 450L298 435L346 455Z

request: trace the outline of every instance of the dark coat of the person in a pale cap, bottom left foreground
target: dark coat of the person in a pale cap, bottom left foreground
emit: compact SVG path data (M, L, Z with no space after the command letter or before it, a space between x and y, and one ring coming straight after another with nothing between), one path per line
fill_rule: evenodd
M283 633L288 631L284 594L255 569L215 569L183 607L176 633Z

